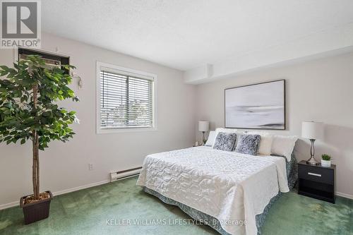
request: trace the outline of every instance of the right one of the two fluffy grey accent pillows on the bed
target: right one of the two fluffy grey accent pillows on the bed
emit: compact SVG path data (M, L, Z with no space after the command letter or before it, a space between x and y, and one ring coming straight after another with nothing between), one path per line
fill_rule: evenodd
M258 146L260 145L260 135L240 135L236 152L244 153L246 155L258 155Z

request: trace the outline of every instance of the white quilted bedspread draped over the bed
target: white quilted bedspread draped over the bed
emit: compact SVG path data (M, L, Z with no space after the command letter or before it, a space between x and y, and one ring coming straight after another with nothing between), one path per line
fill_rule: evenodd
M284 157L191 147L145 157L137 185L217 218L229 234L257 234L256 215L289 191L286 175Z

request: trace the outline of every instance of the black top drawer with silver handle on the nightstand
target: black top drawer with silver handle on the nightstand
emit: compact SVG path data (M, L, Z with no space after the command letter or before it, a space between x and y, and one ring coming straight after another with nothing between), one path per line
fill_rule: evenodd
M323 169L319 167L299 165L298 167L299 178L309 179L322 183L333 184L335 181L333 169Z

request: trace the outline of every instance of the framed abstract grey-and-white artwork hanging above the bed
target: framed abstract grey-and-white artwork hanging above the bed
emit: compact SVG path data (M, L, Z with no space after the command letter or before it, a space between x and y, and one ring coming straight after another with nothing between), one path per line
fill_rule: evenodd
M225 89L225 127L285 130L285 80Z

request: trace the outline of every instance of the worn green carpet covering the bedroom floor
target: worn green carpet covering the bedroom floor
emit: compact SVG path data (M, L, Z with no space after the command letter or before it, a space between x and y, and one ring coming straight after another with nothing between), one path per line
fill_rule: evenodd
M190 219L136 186L136 177L56 196L48 219L23 224L19 207L0 211L0 234L217 234L205 225L132 225ZM107 220L116 219L113 224ZM131 220L128 220L131 219ZM136 220L138 219L138 220ZM143 220L145 219L145 220ZM170 220L169 220L170 219ZM126 225L128 221L131 225ZM165 220L164 220L165 221ZM289 192L271 207L263 234L353 234L353 200L336 204Z

